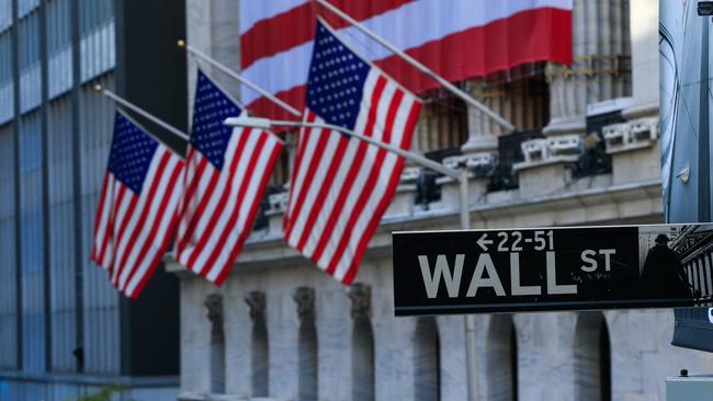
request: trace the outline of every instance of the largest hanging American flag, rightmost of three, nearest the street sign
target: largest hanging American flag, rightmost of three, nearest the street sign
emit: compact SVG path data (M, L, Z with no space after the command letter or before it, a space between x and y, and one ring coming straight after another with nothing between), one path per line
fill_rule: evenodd
M307 122L409 149L420 102L317 24ZM350 284L400 176L404 160L333 130L301 131L285 214L287 242Z

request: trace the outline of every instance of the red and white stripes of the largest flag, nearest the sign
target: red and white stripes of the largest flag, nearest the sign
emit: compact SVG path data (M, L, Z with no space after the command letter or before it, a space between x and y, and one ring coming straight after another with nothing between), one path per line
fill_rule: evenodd
M410 147L420 103L377 69L366 79L354 130ZM320 122L310 111L307 122ZM285 239L320 268L350 284L396 191L404 160L343 134L305 128L299 135Z

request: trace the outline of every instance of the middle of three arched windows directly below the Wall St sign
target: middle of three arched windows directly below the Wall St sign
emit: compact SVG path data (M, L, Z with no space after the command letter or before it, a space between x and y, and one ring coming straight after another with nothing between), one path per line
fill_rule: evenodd
M518 400L518 333L512 317L497 314L488 332L489 400Z

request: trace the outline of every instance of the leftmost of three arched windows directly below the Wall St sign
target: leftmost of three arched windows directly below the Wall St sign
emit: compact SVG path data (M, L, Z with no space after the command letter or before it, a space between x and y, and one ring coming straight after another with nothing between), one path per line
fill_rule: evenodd
M441 356L435 318L418 318L416 321L414 382L416 401L441 399Z

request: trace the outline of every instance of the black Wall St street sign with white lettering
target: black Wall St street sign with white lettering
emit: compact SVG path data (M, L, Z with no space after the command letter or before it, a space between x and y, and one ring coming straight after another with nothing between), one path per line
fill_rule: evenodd
M713 295L713 225L395 232L396 316L682 307Z

